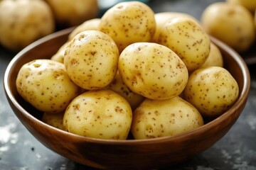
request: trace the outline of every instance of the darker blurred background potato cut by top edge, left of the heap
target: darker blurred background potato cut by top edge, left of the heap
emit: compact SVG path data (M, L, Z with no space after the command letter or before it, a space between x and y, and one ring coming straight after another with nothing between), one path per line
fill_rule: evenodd
M46 0L60 27L78 26L95 18L100 9L97 0Z

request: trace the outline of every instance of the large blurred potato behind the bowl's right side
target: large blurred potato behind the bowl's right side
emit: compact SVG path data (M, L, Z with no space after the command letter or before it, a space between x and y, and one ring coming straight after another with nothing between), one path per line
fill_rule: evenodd
M206 32L238 52L247 51L255 40L252 13L247 8L226 2L208 6L201 16Z

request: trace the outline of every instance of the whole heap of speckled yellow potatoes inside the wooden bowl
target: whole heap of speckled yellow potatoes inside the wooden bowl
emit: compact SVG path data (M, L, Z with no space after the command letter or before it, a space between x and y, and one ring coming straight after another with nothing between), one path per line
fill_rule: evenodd
M223 114L238 84L201 24L127 1L85 21L50 59L21 67L16 88L43 122L85 137L181 134Z

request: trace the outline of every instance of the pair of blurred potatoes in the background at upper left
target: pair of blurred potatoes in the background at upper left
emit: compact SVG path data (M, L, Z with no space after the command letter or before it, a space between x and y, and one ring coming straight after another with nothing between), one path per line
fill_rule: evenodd
M97 0L1 0L0 44L18 52L56 29L98 15Z

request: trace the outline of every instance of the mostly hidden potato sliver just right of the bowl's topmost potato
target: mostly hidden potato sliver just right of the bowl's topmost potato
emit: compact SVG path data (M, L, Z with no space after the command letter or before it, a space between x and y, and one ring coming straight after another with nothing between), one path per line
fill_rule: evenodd
M161 12L155 13L155 21L156 21L156 31L154 33L154 37L152 38L152 42L158 42L159 34L161 33L161 28L164 27L167 21L174 18L191 18L194 21L198 22L196 18L188 15L187 13L177 13L177 12ZM199 24L199 23L198 23Z

